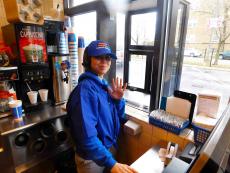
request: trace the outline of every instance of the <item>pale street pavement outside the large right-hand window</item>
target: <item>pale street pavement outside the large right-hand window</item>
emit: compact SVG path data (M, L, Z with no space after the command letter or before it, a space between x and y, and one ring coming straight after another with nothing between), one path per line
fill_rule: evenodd
M183 65L180 90L194 94L209 92L221 95L221 114L230 98L230 71Z

